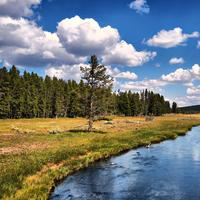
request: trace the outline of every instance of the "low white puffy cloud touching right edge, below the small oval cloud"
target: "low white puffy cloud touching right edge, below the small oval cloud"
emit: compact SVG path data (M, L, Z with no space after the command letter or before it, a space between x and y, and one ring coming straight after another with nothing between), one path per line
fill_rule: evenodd
M200 80L200 65L195 64L191 69L179 68L175 72L162 75L161 79L171 83L190 83L194 80Z

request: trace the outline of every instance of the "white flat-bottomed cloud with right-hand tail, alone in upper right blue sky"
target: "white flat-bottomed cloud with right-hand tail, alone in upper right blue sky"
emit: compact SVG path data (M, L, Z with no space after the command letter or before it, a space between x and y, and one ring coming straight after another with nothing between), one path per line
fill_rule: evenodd
M198 38L199 33L193 32L192 34L185 34L179 27L173 30L161 30L154 35L151 39L147 40L146 44L149 46L171 48L179 45L184 45L189 38Z

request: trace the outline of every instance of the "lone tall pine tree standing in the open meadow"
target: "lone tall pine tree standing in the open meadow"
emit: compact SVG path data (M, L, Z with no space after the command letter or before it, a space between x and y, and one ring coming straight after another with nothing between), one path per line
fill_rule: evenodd
M98 59L95 55L91 56L89 64L89 66L81 67L80 69L83 74L82 79L88 87L88 103L86 105L86 110L89 119L88 131L91 132L98 106L95 105L95 103L102 98L102 95L99 95L98 91L111 88L113 79L106 73L106 67L98 63Z

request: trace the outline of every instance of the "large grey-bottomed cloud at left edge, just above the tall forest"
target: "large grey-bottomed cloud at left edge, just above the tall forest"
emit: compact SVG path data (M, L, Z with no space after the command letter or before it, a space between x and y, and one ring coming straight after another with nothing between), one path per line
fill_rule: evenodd
M0 17L0 57L21 66L74 64L85 60L62 47L56 33L43 31L34 22Z

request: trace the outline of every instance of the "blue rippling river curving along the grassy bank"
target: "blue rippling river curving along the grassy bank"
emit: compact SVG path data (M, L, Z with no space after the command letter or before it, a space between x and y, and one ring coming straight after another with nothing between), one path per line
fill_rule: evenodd
M97 162L59 184L51 200L200 200L200 126L184 137Z

